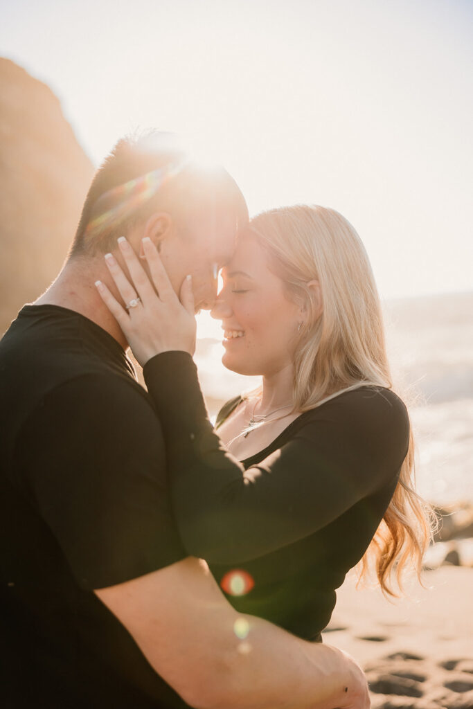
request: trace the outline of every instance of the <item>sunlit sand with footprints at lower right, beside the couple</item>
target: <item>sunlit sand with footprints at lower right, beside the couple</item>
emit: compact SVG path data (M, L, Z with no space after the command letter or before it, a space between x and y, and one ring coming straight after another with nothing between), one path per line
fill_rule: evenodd
M441 566L387 601L350 576L324 642L352 654L367 674L374 709L473 708L473 571Z

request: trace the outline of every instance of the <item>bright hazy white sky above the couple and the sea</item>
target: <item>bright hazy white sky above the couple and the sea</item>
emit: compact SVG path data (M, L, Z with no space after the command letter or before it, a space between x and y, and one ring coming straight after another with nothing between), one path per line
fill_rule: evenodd
M191 135L250 213L331 206L384 298L473 286L469 0L2 0L0 54L47 82L98 164Z

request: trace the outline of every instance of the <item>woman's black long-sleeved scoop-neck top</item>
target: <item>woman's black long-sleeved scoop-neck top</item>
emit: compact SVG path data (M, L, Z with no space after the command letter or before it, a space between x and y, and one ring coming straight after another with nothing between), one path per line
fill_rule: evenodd
M335 589L394 493L408 449L404 403L383 387L340 393L240 463L213 431L188 354L159 354L144 374L162 418L187 551L207 559L224 591L231 571L245 571L247 593L228 596L237 610L318 640Z

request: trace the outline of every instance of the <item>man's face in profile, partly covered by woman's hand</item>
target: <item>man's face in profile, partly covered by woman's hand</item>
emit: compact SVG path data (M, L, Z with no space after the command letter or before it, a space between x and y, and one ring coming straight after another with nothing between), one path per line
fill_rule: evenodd
M221 218L218 230L213 219L201 219L187 233L177 230L162 240L160 256L177 294L191 274L195 309L210 310L217 295L218 270L235 250L235 217Z

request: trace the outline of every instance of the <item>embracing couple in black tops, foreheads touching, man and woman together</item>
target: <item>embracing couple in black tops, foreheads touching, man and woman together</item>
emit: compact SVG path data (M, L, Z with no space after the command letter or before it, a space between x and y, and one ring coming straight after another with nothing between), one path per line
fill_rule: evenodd
M223 364L262 378L215 428L199 308ZM65 266L1 340L0 381L6 707L369 706L321 631L359 562L387 593L420 566L428 518L343 216L248 220L223 169L121 140Z

